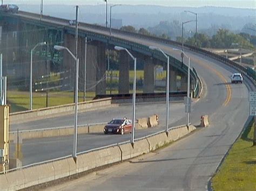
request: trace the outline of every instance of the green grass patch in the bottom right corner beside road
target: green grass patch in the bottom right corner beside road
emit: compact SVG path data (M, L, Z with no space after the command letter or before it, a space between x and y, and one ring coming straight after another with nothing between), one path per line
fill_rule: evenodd
M212 180L214 190L256 190L256 146L251 124L232 146Z

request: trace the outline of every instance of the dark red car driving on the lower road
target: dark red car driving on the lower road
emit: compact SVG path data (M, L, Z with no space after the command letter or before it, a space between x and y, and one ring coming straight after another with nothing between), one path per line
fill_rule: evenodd
M129 119L112 119L104 127L104 133L115 133L124 135L124 133L131 133L132 131L132 121Z

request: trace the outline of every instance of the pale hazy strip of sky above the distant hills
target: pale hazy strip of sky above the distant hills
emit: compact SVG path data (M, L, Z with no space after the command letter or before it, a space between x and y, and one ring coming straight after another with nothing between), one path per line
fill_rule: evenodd
M4 4L40 4L41 0L3 0ZM43 0L44 4L103 4L103 0ZM146 4L164 6L228 6L256 9L256 0L108 0L110 4Z

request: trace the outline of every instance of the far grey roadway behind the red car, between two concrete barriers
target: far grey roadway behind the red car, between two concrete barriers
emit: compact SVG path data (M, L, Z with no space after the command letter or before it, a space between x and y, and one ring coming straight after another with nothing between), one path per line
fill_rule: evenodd
M176 122L185 116L185 107L183 101L170 103L170 123ZM161 123L166 118L166 103L138 103L136 105L136 118L149 117L158 114ZM78 124L92 124L109 122L112 118L123 118L124 116L132 118L132 105L120 104L118 107L105 108L100 110L79 112ZM55 128L59 126L72 126L74 124L74 115L64 115L52 118L38 119L29 122L21 122L10 125L10 131Z

